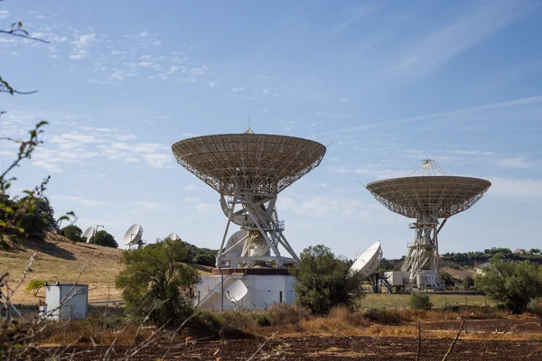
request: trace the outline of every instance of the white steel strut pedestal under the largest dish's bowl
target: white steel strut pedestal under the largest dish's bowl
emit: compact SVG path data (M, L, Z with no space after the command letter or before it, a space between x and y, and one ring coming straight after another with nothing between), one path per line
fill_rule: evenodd
M297 255L283 235L284 221L278 219L275 204L276 195L272 194L239 193L228 199L220 196L220 205L228 217L228 223L217 255L217 267L220 267L223 262L230 261L239 262L239 266L243 268L252 267L258 262L273 263L276 267L298 263ZM239 210L236 211L235 208ZM240 255L229 253L235 245L224 249L231 223L248 232L247 236L238 241L238 243L244 242ZM290 256L281 255L278 245L282 245Z

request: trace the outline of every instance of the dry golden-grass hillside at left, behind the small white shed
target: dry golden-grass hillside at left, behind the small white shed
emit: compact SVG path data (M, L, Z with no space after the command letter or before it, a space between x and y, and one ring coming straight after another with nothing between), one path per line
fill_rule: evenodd
M119 264L122 249L109 248L86 243L71 243L63 236L48 233L44 241L19 238L8 251L0 250L0 273L9 272L10 284L19 282L28 260L35 253L36 261L23 285L14 295L14 303L38 303L44 301L45 292L38 297L26 292L31 280L46 282L79 282L89 284L89 301L121 300L121 293L115 288L115 278L121 271ZM209 274L210 267L195 265L202 274ZM86 267L86 268L85 268Z

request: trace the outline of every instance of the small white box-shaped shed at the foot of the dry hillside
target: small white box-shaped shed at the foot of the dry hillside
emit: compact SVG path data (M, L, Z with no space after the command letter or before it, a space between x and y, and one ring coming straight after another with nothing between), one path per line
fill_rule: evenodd
M45 283L43 318L84 319L89 304L89 285L79 283Z

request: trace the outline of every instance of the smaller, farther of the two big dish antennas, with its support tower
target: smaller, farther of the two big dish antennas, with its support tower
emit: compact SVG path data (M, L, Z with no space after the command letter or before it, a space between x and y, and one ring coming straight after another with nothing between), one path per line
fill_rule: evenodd
M421 173L421 175L419 175ZM423 160L408 177L377 180L367 190L386 208L407 218L415 230L414 242L407 244L408 253L401 271L409 272L412 284L423 270L439 277L438 234L446 220L471 208L491 187L489 180L448 176L431 159ZM439 219L444 219L439 222Z

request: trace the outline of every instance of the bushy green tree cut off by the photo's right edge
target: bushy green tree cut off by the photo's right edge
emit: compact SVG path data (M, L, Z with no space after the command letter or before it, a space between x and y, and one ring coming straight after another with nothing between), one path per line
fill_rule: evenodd
M529 261L502 262L491 258L484 273L474 278L476 288L515 314L527 310L528 303L542 296L542 267Z

